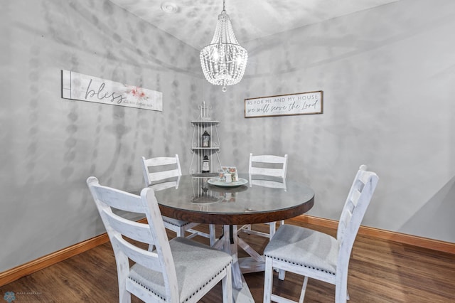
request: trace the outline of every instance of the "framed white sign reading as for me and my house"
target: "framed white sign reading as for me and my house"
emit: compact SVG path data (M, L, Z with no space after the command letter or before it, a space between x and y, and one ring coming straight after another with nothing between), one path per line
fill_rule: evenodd
M245 99L245 118L322 114L322 90Z

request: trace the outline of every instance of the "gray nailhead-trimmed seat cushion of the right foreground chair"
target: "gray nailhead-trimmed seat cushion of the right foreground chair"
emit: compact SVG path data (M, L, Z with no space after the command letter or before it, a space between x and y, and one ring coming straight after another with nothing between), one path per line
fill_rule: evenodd
M285 224L278 228L264 255L335 275L338 241L326 233Z

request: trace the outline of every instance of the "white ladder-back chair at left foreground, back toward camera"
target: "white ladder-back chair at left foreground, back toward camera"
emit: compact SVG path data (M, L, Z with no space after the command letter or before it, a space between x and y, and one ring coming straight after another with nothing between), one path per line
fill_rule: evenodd
M187 238L168 240L152 188L137 196L102 186L93 176L87 185L114 250L119 302L131 302L131 294L144 302L198 302L220 281L223 302L232 302L232 257ZM114 209L144 213L148 223L122 218Z

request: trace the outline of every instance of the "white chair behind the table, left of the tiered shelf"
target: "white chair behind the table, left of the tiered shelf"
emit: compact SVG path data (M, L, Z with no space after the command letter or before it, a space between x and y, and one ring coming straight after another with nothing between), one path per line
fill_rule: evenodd
M182 175L180 160L178 154L175 157L161 156L156 158L146 159L141 158L142 171L144 173L144 181L146 186L151 186L156 181L164 181L166 179L176 178ZM215 243L215 225L209 225L209 233L204 233L200 230L193 229L199 223L192 223L184 220L177 220L163 216L164 227L168 230L173 230L178 237L184 237L185 232L190 233L187 238L193 238L196 235L208 238L210 245Z

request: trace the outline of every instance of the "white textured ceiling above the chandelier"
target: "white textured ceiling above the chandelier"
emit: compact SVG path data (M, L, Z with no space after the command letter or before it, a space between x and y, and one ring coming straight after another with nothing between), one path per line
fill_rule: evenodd
M212 40L223 0L110 0L196 49ZM225 0L240 44L397 0ZM176 4L176 13L161 10Z

